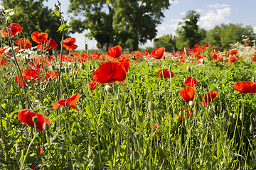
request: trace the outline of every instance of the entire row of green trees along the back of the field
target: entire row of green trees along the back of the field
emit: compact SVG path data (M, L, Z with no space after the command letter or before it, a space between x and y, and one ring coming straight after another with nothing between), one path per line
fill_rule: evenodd
M60 18L43 5L44 1L1 0L1 5L14 10L9 23L19 23L26 38L30 38L33 31L38 31L46 32L53 40L60 42L61 34L56 33ZM85 37L95 38L103 50L114 45L121 45L127 50L139 50L139 45L154 40L154 47L165 47L169 52L186 46L193 47L196 43L214 45L224 50L230 47L230 43L241 42L241 35L245 35L248 40L255 39L253 28L241 24L221 24L211 30L199 28L200 15L196 11L186 13L183 21L178 23L175 35L155 38L156 26L161 23L163 11L170 5L169 0L70 0L68 13L73 15L69 23L72 29L66 31L65 37L70 36L70 33L90 30Z

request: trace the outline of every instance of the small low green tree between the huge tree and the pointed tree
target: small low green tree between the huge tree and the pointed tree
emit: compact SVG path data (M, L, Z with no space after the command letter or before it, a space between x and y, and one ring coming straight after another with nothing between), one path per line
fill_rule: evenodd
M166 52L176 51L174 38L171 34L154 39L154 48L164 47Z

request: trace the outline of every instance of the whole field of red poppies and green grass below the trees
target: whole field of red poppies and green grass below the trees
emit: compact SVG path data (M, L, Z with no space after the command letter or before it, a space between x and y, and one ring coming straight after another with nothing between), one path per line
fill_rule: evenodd
M253 42L88 54L21 32L0 31L1 169L255 168Z

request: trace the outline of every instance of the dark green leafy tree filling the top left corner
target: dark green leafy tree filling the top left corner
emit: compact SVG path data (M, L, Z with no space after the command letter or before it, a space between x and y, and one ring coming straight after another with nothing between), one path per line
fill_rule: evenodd
M58 43L61 41L61 34L57 33L60 26L60 18L53 16L52 10L43 6L44 0L1 0L1 5L5 9L13 9L14 15L9 18L9 23L21 25L25 38L31 40L31 33L48 33L48 37L53 38ZM36 45L36 42L33 42Z

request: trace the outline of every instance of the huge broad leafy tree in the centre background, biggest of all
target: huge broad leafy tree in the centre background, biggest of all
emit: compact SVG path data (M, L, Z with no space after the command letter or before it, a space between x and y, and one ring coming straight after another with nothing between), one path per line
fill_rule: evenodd
M69 12L80 16L72 18L73 31L90 30L87 36L106 48L118 44L138 50L139 44L156 36L156 26L164 17L162 11L169 6L169 0L70 0Z

